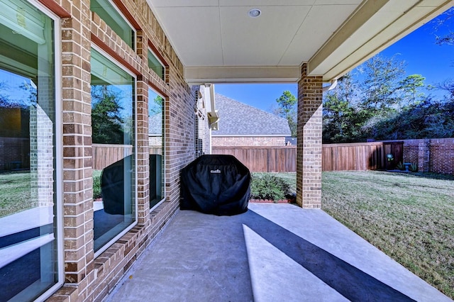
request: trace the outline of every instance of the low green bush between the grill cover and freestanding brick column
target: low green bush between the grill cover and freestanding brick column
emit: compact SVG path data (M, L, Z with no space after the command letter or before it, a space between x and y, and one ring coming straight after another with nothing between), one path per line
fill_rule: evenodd
M285 199L289 192L289 184L280 177L271 174L252 174L250 198L278 201Z

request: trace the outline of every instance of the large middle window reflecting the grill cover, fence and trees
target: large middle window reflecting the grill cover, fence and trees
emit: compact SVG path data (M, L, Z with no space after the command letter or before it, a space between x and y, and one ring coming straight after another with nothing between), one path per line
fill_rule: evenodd
M93 152L94 250L99 255L137 220L135 79L92 49L91 81L93 147L103 150Z

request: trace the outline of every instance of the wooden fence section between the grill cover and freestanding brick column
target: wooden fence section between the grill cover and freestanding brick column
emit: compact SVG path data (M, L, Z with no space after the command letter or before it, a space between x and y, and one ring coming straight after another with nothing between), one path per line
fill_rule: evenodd
M251 172L297 171L297 147L212 147L211 153L233 155Z

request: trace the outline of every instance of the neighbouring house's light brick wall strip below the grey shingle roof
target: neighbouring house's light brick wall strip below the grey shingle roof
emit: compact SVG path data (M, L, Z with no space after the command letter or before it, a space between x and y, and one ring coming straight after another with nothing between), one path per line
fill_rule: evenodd
M232 146L284 146L284 136L241 136L241 137L211 137L213 147Z

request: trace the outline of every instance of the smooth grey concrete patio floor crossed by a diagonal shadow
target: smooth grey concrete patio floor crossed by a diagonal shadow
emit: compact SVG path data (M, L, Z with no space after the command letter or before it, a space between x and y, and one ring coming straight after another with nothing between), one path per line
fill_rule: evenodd
M318 209L179 211L105 301L451 301Z

